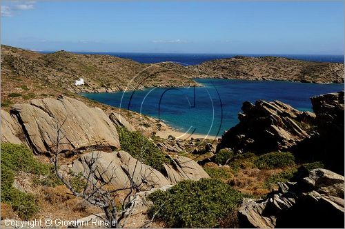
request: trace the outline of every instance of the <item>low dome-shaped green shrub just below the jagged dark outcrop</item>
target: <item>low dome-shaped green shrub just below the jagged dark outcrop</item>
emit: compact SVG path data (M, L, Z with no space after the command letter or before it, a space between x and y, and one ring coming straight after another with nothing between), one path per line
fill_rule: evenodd
M295 166L295 157L290 152L269 152L255 160L259 169L286 168Z

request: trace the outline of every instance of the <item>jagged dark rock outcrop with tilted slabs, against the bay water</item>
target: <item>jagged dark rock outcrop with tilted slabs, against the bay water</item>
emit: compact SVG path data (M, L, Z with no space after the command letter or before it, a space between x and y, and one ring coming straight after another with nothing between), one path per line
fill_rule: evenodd
M301 112L281 101L246 101L239 113L239 123L221 137L217 150L231 148L242 152L288 150L310 137L297 123L313 123L315 115Z

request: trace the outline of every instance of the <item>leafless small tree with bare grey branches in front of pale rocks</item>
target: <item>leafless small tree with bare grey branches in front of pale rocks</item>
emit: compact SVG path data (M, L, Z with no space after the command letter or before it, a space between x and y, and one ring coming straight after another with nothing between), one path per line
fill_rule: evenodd
M113 179L117 179L117 175L115 173L117 167L112 166L112 161L110 161L109 165L106 167L106 170L99 174L98 166L96 165L97 160L99 160L99 154L92 154L91 159L89 159L87 162L88 172L84 170L83 174L86 179L86 184L82 188L82 190L78 192L76 188L73 188L70 181L63 177L63 175L59 171L59 146L61 144L61 140L66 137L66 135L63 135L63 131L61 130L61 128L66 122L66 119L62 123L56 121L57 139L55 142L55 146L52 146L52 150L50 150L57 177L64 183L64 185L70 190L70 192L72 192L72 195L75 195L75 197L80 197L88 201L88 203L91 203L93 206L101 208L101 210L103 210L103 216L96 215L97 217L101 218L104 221L116 222L115 225L109 225L109 227L124 227L126 225L128 217L130 217L134 210L138 193L141 191L148 191L152 188L152 186L155 186L155 184L153 184L148 188L148 186L146 185L147 177L152 174L153 168L144 168L139 160L137 160L135 164L135 170L132 172L122 167L121 169L126 173L130 183L127 187L124 188L114 188L111 181ZM101 179L102 175L110 170L112 170L112 175L108 179L108 181L104 181L103 179ZM141 181L139 182L137 179L134 179L134 174L136 171L140 171L141 174L145 175L145 177L142 177ZM127 192L127 194L125 195L124 199L122 199L121 207L119 208L119 206L115 204L115 197L117 197L119 192L121 191Z

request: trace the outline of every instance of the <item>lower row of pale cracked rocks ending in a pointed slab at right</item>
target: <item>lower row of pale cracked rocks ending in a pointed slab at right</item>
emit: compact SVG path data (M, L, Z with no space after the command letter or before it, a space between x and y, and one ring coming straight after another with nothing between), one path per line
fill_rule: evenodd
M81 172L85 177L88 177L90 169L95 170L92 179L110 182L115 188L127 188L132 180L143 190L161 188L186 179L209 178L204 169L192 159L178 156L173 161L172 166L164 164L164 177L161 172L141 163L128 152L93 151L73 161L71 170L77 174Z

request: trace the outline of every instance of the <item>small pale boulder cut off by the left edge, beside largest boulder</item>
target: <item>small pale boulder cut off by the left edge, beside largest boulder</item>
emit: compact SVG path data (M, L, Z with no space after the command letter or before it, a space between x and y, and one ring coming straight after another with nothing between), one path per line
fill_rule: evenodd
M1 142L20 144L23 136L18 123L5 110L1 110Z

